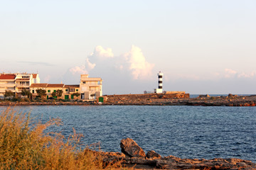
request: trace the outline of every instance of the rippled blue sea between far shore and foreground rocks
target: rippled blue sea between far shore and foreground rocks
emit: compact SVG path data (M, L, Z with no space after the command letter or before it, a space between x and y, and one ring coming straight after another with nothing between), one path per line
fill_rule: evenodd
M1 106L0 111L6 107ZM46 122L61 118L60 131L73 128L84 145L100 142L106 152L120 152L131 137L145 152L181 158L235 157L256 162L256 107L203 106L16 106Z

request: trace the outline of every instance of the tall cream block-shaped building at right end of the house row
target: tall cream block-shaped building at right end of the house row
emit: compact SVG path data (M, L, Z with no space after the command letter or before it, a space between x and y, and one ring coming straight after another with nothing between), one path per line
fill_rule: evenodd
M80 94L82 100L95 100L102 96L102 79L89 77L89 74L81 74Z

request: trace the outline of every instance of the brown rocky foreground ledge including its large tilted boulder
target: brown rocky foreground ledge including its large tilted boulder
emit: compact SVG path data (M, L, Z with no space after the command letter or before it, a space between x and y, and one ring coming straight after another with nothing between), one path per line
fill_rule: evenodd
M121 154L101 152L106 164L122 160L122 166L134 169L256 169L256 164L251 161L235 158L181 159L174 156L161 157L154 151L148 152L144 157L144 151L130 138L122 140L120 146L123 152Z

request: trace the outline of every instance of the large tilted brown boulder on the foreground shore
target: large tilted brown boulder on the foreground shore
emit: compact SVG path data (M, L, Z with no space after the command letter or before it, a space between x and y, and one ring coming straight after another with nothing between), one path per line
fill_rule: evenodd
M122 139L120 147L127 157L146 157L144 150L131 138Z

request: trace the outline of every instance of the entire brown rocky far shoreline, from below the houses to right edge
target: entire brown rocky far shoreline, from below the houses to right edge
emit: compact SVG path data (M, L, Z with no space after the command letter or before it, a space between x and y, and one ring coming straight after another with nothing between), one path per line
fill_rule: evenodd
M103 103L96 101L0 101L0 106L256 106L256 96L199 96L189 98L159 94L127 94L104 96Z

